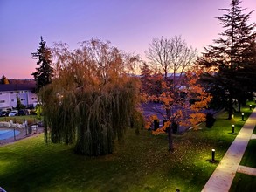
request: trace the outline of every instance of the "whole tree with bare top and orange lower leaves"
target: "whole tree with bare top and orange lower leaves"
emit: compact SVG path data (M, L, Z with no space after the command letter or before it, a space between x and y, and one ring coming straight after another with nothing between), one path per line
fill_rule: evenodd
M161 40L158 39L158 41ZM149 52L151 54L154 53L154 55L148 57L151 65L156 61L163 61L163 56L167 57L166 54L161 52L163 50L165 50L165 53L168 52L170 54L168 56L170 59L165 59L164 65L158 63L155 67L152 67L152 70L154 70L154 68L157 69L157 65L160 66L158 67L158 72L161 72L160 69L164 66L160 79L162 82L161 93L159 95L148 94L146 99L148 102L159 102L162 107L158 110L154 108L156 114L149 117L146 128L149 128L151 123L157 120L157 114L161 115L164 120L163 127L153 131L153 134L167 133L169 151L172 152L174 150L173 129L177 126L195 127L199 122L204 121L205 114L202 109L207 107L211 96L198 83L202 71L196 65L193 65L196 56L195 50L191 47L188 48L181 38L172 38L170 41L165 40L166 43L170 43L168 46L161 42L156 44L156 41L157 39L154 38L154 44L149 47ZM157 45L155 50L154 45ZM164 45L164 49L159 47L162 45ZM171 48L171 50L166 50L167 47ZM159 51L158 54L157 51ZM170 69L170 71L166 71L167 69ZM169 72L172 72L170 76ZM159 76L157 78L159 80ZM192 103L190 102L191 100L193 101Z

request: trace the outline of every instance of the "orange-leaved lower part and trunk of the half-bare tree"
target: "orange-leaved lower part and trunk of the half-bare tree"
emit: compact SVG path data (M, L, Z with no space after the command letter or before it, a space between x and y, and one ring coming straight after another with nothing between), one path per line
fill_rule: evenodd
M205 121L203 110L211 101L211 95L205 92L204 87L198 83L202 72L197 66L194 66L185 72L183 79L176 83L176 86L173 86L173 79L161 79L161 93L158 95L146 94L146 96L143 93L143 97L147 98L148 102L162 105L161 112L148 117L145 128L149 129L154 120L159 120L157 115L162 115L163 127L153 130L152 133L169 134L170 150L173 150L171 134L174 126L197 128L198 123ZM157 78L159 80L159 76Z

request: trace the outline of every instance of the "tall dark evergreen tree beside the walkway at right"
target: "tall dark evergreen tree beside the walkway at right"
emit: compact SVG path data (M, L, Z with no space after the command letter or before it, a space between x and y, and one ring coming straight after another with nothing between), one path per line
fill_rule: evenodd
M255 25L247 24L252 11L245 14L246 9L242 9L239 3L239 0L232 0L229 9L220 9L225 11L225 14L217 18L224 31L219 34L220 38L213 40L214 45L205 48L203 57L199 60L201 65L211 70L207 79L211 79L211 82L214 80L214 83L226 93L228 119L232 119L233 99L241 97L237 93L247 91L245 79L248 76L245 71L255 65L253 60L249 59L253 57L250 48L255 42ZM255 77L253 80L255 82Z

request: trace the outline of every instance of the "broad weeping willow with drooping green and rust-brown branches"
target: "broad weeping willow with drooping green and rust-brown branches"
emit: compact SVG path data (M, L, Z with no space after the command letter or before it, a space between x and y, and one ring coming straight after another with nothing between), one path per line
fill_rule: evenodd
M123 141L130 121L141 123L139 84L128 76L137 58L99 39L74 51L58 44L53 52L56 77L39 93L45 141L74 143L77 154L111 154L114 140Z

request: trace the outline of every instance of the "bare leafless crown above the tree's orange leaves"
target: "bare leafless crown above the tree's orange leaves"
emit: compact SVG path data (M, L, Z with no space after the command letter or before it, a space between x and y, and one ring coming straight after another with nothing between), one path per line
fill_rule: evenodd
M189 47L181 36L170 39L153 38L149 50L145 53L152 70L162 73L164 79L167 79L170 73L174 82L176 74L182 75L188 70L197 56L197 50Z

